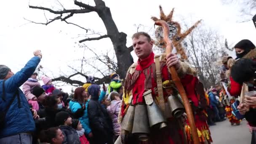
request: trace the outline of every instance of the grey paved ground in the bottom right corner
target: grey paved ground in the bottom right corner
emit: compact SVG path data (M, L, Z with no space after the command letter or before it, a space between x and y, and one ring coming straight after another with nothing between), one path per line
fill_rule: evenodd
M231 125L228 120L210 127L213 144L251 144L251 133L243 120L240 125Z

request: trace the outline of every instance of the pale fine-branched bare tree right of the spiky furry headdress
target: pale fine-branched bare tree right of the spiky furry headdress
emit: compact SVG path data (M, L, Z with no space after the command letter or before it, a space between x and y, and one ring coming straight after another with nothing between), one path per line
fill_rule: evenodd
M188 35L186 42L189 61L205 88L219 83L218 61L226 53L221 37L212 29L200 26Z

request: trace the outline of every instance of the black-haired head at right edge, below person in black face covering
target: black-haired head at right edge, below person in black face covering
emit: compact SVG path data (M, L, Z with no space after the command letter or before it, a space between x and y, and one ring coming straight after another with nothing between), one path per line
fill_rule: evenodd
M251 59L239 59L231 68L231 76L235 82L243 84L255 76L256 61Z

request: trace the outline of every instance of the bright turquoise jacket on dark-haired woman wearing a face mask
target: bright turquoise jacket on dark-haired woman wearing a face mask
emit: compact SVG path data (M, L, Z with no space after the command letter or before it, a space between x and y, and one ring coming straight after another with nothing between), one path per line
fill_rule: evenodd
M89 101L89 100L88 100ZM88 113L87 113L87 108L88 108L88 101L85 103L85 111L84 115L79 118L80 123L82 124L83 128L85 129L85 133L88 135L91 133L91 128L89 126L89 118L88 118ZM84 104L83 104L84 106ZM77 101L69 101L69 109L71 109L71 112L76 112L77 109L82 108L80 103Z

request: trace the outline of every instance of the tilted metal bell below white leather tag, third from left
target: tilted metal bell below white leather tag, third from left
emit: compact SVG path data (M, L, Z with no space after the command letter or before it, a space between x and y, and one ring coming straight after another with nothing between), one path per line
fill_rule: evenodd
M159 127L164 128L166 127L166 119L163 116L163 112L160 108L155 104L155 101L151 104L147 104L147 114L149 117L149 126L150 127Z

